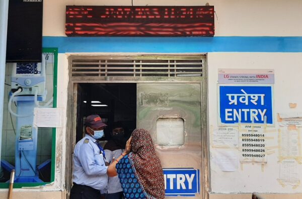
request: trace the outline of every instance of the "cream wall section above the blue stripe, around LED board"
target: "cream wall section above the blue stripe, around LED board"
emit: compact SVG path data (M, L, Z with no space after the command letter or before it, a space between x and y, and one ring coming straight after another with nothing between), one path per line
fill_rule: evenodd
M215 36L302 36L300 0L137 1L134 6L214 6ZM65 36L65 6L130 6L131 0L45 0L43 36Z

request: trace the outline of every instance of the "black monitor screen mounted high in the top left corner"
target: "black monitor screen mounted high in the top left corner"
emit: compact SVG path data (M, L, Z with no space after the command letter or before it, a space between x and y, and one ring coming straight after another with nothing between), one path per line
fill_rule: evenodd
M41 62L42 0L10 0L7 62Z

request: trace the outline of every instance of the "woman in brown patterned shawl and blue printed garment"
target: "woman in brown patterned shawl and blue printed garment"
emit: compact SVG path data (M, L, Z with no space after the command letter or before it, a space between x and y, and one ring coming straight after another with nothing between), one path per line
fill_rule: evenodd
M107 173L109 176L118 175L126 199L165 198L162 165L155 153L152 138L144 129L132 132L125 151L112 161Z

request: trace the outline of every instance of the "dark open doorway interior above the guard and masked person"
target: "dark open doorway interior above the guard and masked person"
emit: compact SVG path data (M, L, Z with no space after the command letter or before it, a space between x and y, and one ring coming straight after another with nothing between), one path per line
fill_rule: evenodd
M107 124L101 144L111 139L114 122L120 122L125 136L130 137L136 127L136 83L79 83L75 143L85 136L85 119L89 115L99 115Z

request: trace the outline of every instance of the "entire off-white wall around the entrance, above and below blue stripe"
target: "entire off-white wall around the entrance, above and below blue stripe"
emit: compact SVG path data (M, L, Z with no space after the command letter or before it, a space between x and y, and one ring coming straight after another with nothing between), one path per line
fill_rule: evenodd
M203 6L206 3L215 7L215 36L302 36L302 1L292 0L213 0L213 1L137 1L135 6ZM104 0L44 0L43 36L65 36L65 6L129 6L131 1ZM261 44L259 44L261 45ZM55 46L53 46L55 47ZM159 52L161 49L158 49ZM97 52L96 52L97 53ZM100 53L100 52L99 52ZM200 52L204 53L204 52ZM209 126L217 127L217 69L251 68L274 69L275 113L292 111L288 103L297 103L294 112L302 112L301 53L209 53L208 54L208 99ZM68 62L65 54L58 57L58 108L66 110ZM294 80L294 81L293 81ZM65 116L64 123L66 122ZM274 128L278 129L278 126ZM64 184L66 129L57 131L56 181L44 189L60 189ZM277 146L277 139L270 141ZM211 155L214 149L210 146ZM222 172L211 162L211 190L213 192L302 192L302 186L292 189L282 187L279 177L279 163L275 153L269 155L268 163L261 168L257 164L244 164L237 172ZM301 165L299 165L301 167ZM69 171L67 171L69 172Z

